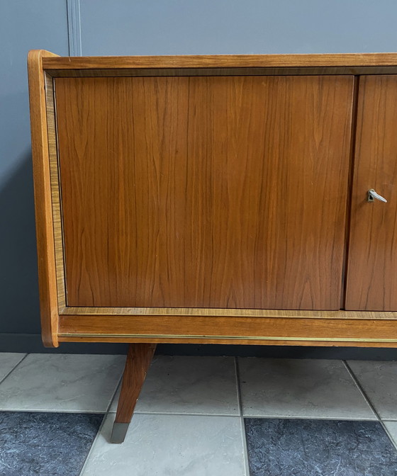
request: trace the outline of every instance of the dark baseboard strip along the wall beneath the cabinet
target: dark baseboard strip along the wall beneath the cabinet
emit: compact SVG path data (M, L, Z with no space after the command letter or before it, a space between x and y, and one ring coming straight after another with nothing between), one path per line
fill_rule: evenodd
M58 348L43 346L40 334L1 334L0 352L103 353L123 354L128 344L62 343ZM163 356L239 356L267 358L328 358L360 361L395 361L396 348L236 346L216 344L159 344Z

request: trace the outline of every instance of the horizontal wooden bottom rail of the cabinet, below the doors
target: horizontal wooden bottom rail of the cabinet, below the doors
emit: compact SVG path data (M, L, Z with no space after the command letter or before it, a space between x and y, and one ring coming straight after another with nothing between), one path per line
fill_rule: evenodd
M60 339L69 341L196 342L238 344L255 341L323 342L335 345L397 343L395 320L296 319L279 317L112 316L60 317ZM112 340L113 339L113 340ZM314 345L314 344L313 344ZM320 344L323 345L323 344Z

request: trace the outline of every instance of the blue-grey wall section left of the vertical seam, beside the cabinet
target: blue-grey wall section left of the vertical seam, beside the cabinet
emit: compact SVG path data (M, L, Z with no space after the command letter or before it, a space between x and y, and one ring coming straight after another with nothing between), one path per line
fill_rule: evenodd
M0 332L40 329L26 56L68 54L65 0L0 0ZM1 342L1 340L0 340Z

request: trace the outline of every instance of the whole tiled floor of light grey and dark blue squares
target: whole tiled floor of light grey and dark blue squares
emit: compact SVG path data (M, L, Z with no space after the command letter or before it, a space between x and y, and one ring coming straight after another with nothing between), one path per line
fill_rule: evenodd
M397 362L0 353L0 476L396 476Z

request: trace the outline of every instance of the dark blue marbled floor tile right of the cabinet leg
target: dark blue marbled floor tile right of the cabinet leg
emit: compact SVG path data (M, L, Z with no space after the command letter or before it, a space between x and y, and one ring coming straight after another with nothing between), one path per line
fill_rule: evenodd
M246 419L251 476L396 476L377 421Z

